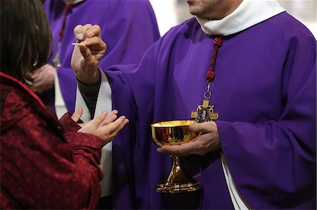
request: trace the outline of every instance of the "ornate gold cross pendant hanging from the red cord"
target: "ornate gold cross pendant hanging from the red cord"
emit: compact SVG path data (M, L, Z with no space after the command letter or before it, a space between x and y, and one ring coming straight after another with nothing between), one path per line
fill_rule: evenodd
M209 98L205 98L202 105L197 105L196 112L192 112L191 118L197 122L207 122L218 119L219 114L213 112L214 105L209 105Z

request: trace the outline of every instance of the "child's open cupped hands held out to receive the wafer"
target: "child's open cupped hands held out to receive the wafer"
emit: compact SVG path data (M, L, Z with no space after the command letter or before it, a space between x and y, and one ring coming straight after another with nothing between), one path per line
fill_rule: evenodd
M112 115L112 117L108 117L108 112L102 112L102 114L99 114L97 117L82 126L78 132L98 136L101 138L104 145L106 145L111 142L118 132L123 129L123 126L129 122L125 116L121 116L116 119L116 114Z

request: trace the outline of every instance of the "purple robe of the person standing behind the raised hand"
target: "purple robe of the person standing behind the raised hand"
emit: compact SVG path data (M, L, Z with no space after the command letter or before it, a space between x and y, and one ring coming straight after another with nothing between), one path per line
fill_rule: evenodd
M59 32L65 12L62 0L46 0L44 4L54 37L54 54L58 48ZM106 69L115 64L139 63L144 52L159 39L154 11L148 0L85 0L73 5L67 15L61 41L61 67L56 68L61 93L70 112L75 109L76 79L70 60L76 42L76 25L99 25L107 52L99 67ZM51 63L51 61L50 61Z

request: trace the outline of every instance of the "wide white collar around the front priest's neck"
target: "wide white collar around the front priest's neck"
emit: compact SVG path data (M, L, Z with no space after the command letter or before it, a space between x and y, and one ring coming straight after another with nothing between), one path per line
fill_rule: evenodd
M243 0L235 11L221 20L197 18L201 29L209 35L227 36L256 25L285 11L278 0Z

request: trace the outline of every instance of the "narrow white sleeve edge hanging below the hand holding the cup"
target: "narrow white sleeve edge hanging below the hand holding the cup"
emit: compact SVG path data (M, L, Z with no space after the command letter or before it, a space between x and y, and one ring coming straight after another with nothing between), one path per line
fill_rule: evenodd
M247 204L244 203L242 200L241 195L237 191L237 187L235 185L235 182L232 179L229 167L227 162L225 162L225 157L223 156L223 153L221 152L221 164L223 165L223 173L225 174L225 181L228 186L228 190L230 193L231 201L236 210L248 210L249 207Z

